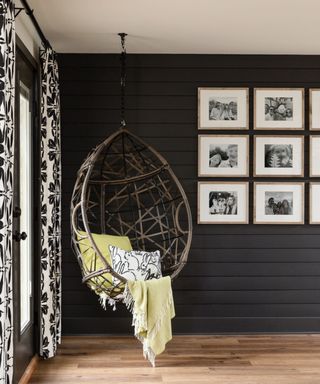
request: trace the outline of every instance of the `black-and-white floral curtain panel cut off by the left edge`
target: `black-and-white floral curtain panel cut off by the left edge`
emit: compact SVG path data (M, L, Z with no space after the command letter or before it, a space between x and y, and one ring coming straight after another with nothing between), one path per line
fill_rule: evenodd
M0 383L13 376L14 4L0 0Z

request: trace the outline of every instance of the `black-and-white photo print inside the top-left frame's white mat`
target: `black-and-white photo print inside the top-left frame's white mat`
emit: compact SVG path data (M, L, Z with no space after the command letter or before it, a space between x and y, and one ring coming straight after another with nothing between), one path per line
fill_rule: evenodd
M237 120L237 97L209 97L209 120Z

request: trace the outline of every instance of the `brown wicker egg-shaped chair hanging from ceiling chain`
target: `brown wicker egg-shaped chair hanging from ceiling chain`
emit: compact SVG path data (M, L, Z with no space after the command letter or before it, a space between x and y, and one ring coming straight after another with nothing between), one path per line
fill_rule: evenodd
M192 217L166 160L122 127L95 148L78 171L71 231L83 282L117 300L125 279L103 256L93 234L128 236L136 250L160 250L162 274L174 279L187 261ZM94 255L90 263L84 260L81 241Z

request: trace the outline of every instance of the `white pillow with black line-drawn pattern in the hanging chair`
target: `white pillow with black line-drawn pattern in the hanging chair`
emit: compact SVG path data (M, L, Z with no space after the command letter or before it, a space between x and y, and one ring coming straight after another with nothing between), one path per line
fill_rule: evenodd
M162 277L160 252L125 251L109 245L112 268L127 280L150 280ZM114 284L119 280L113 278Z

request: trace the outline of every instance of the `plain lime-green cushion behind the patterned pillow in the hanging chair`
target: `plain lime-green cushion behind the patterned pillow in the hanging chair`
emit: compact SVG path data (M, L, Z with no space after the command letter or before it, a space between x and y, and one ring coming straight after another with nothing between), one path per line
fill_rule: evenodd
M79 231L78 242L84 270L93 272L98 271L99 269L104 269L104 263L98 255L96 256L96 252L91 246L90 239L88 237L82 238L82 236L87 236L86 232ZM97 233L92 233L92 237L93 241L96 243L97 248L100 250L105 260L111 266L112 260L109 252L109 246L116 246L126 251L132 250L130 240L127 236L113 236L106 234L100 235ZM103 291L103 288L108 288L112 284L113 280L110 273L104 273L101 276L95 277L90 281L90 283L88 283L91 289L95 291L97 290L96 293L98 294Z

